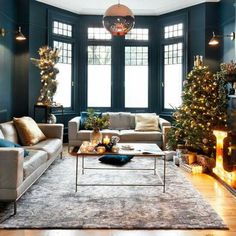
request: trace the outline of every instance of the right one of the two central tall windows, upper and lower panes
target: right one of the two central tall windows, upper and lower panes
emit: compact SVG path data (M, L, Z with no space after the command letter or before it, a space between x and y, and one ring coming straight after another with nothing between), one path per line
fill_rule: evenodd
M139 45L148 41L148 29L133 29L125 38L125 108L148 108L148 46Z

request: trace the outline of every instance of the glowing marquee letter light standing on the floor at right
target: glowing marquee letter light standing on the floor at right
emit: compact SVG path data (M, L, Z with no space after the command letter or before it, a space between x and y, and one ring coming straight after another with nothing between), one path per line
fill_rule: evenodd
M213 168L213 173L232 186L236 182L236 172L228 172L223 166L223 145L227 132L214 130L213 134L216 136L216 166Z

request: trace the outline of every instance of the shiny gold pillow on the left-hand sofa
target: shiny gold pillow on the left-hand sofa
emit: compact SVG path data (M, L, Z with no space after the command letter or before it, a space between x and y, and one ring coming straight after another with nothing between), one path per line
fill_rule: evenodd
M46 139L44 133L31 117L13 118L13 122L23 145L34 145Z

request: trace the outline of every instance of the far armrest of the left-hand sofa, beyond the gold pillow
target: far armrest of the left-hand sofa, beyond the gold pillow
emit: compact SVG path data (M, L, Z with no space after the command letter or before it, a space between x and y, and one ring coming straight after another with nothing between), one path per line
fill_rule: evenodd
M63 124L38 124L47 138L59 138L63 140Z

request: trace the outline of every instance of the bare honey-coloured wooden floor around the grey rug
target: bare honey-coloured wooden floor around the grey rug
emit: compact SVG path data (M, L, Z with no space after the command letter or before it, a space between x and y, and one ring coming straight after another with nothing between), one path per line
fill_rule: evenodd
M182 173L222 217L229 230L0 230L0 236L236 236L236 198L211 176Z

